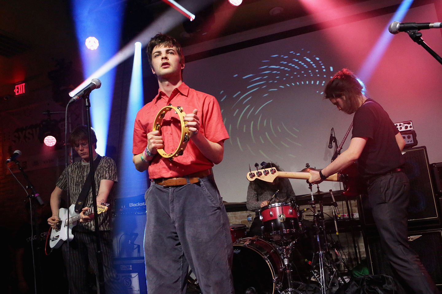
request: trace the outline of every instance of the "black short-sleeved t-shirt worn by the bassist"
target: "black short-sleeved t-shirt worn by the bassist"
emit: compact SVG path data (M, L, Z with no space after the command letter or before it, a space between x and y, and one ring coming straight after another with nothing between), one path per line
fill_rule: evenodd
M358 159L358 171L364 178L384 174L405 163L396 142L397 133L399 130L388 113L372 99L367 99L354 113L351 138L368 138Z

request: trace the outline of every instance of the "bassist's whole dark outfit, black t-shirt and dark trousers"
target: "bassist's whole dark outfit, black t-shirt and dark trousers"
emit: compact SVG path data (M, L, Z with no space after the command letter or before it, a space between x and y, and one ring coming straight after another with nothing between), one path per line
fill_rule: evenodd
M417 254L408 245L407 207L410 183L402 172L385 174L405 160L396 141L397 128L377 102L367 99L354 113L353 135L368 138L358 158L359 172L370 179L368 196L382 249L398 279L416 294L439 293Z

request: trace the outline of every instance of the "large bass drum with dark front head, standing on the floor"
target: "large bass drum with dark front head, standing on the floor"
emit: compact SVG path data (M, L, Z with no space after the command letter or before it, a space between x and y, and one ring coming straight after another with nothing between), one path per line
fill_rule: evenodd
M241 294L253 287L258 294L279 293L283 263L275 246L259 238L244 238L233 244L233 287Z

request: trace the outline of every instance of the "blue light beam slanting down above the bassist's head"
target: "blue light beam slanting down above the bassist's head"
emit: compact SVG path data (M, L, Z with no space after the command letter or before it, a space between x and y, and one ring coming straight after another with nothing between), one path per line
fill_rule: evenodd
M393 35L388 31L388 26L394 21L401 22L408 9L412 5L413 0L403 0L402 3L397 8L396 12L390 19L390 21L385 26L382 31L381 37L376 42L376 45L371 49L370 54L367 56L366 60L362 64L362 67L358 71L358 77L364 81L366 84L370 81L370 78L377 67L377 64L384 56L385 50L390 45Z

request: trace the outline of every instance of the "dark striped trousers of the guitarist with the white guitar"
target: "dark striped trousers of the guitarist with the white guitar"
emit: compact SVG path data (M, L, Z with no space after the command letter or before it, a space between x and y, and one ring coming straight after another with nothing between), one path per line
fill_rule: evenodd
M63 258L65 260L69 289L71 294L88 294L90 289L87 283L88 265L98 276L98 265L95 252L97 250L94 232L78 232L72 229L74 239L63 243ZM106 294L127 294L126 287L116 278L112 267L112 234L110 231L100 231L101 250L103 251L103 275Z

